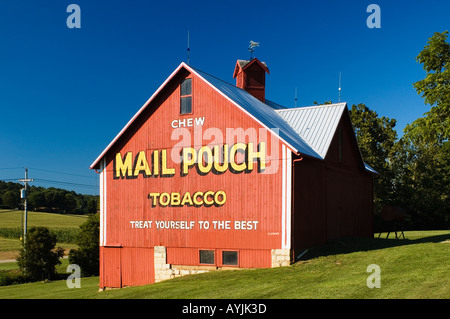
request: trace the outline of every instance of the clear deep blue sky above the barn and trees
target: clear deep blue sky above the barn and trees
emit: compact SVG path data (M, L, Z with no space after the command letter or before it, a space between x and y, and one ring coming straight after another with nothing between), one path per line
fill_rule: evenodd
M81 28L66 25L69 4ZM366 12L381 9L381 28ZM450 30L447 0L0 1L0 179L98 194L90 164L182 62L234 83L237 59L270 69L266 97L285 106L365 103L406 124L429 107L415 57ZM73 174L73 175L68 175ZM71 185L68 183L82 184ZM86 186L90 185L90 187Z

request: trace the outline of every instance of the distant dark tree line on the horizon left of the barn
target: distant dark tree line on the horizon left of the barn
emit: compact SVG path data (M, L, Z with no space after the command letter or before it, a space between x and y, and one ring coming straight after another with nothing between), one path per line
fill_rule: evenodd
M0 208L23 209L20 190L23 185L0 181ZM29 186L27 209L60 214L95 214L99 206L97 195L83 195L54 187Z

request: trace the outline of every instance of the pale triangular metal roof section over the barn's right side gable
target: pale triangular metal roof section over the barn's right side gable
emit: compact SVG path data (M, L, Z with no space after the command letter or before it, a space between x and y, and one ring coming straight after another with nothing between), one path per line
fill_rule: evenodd
M346 103L275 110L308 145L325 158Z

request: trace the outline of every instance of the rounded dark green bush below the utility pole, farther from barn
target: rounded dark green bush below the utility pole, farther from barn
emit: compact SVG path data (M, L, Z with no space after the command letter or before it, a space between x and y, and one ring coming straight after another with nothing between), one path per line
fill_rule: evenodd
M46 227L32 227L27 232L25 246L20 249L17 264L30 280L50 279L56 273L64 255L61 247L55 249L56 235Z

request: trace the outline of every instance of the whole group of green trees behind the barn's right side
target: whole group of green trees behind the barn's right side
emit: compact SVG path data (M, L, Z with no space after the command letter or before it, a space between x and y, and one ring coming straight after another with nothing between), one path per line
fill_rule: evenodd
M408 214L409 229L450 229L450 44L436 32L417 62L426 77L413 83L430 110L398 138L396 120L379 117L364 104L350 116L364 161L374 177L375 217L386 205ZM377 225L377 224L376 224Z

